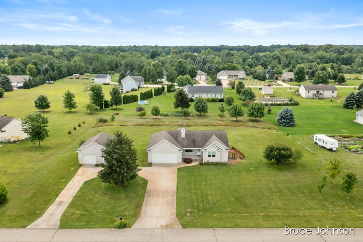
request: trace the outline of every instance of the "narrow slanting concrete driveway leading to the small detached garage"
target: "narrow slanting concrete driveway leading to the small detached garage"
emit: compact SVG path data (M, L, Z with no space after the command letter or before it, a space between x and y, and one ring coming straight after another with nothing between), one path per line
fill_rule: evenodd
M27 228L58 228L63 212L79 188L81 188L83 182L95 178L100 169L101 167L95 167L94 165L82 165L42 217L31 223Z

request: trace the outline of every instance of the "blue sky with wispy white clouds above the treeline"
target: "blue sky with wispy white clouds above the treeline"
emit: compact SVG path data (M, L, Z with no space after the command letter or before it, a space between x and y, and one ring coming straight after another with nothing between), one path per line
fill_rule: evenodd
M362 1L0 0L0 44L363 44Z

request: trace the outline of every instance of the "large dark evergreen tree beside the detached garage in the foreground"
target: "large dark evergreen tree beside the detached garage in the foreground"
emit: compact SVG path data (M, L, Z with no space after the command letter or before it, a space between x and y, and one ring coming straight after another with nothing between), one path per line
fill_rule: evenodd
M132 140L119 131L114 136L106 141L105 149L102 149L104 164L101 164L98 177L102 182L123 186L134 180L141 169L136 163L136 149Z

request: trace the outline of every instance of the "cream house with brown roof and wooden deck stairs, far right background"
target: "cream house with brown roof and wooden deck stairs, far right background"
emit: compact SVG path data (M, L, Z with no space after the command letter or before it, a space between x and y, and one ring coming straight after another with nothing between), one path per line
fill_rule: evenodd
M299 93L302 97L306 98L331 98L337 97L338 89L332 84L317 84L317 85L301 85L299 87Z

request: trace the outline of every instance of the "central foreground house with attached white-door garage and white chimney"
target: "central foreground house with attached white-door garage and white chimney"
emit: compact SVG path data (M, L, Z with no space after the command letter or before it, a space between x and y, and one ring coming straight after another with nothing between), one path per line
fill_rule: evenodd
M150 163L181 163L184 158L227 162L229 142L225 130L165 130L151 134Z

